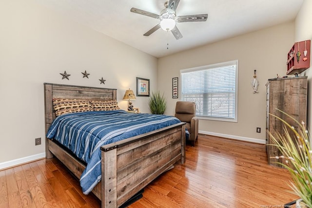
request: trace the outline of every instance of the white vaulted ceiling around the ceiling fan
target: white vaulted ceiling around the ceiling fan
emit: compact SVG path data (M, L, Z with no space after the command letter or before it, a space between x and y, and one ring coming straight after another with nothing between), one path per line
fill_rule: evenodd
M176 15L208 13L204 22L179 22L183 35L145 32L159 20L130 12L132 7L159 14L166 0L37 0L70 19L155 57L220 41L295 19L303 0L180 0ZM169 49L167 49L167 43Z

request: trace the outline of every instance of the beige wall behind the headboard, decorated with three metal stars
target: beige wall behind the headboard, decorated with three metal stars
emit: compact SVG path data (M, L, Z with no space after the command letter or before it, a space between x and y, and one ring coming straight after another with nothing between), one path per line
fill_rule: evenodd
M127 102L122 97L128 88L135 91L136 77L150 79L151 89L157 88L155 57L34 0L1 1L0 25L0 169L3 162L44 156L43 83L117 88L123 109ZM71 74L69 81L59 75L65 70ZM89 79L82 78L85 70ZM105 85L99 84L101 77ZM133 103L149 112L147 99L138 97ZM37 137L42 138L40 146L35 146Z

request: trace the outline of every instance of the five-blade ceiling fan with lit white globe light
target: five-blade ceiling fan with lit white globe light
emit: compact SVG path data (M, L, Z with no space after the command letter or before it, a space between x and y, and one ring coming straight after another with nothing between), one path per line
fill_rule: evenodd
M130 11L160 20L160 23L143 34L144 36L149 36L159 28L162 28L165 31L171 31L176 40L178 40L183 36L177 29L176 22L207 21L208 18L208 14L176 16L176 7L179 4L179 1L180 0L166 1L165 8L161 10L159 15L137 8L131 8Z

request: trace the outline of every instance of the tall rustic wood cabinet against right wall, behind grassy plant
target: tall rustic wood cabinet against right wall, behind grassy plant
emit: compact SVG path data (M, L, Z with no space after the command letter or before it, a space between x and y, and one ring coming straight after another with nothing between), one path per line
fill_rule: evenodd
M297 121L307 123L307 77L293 77L293 78L278 78L269 79L267 83L267 120L266 120L266 150L268 154L268 163L274 166L280 166L274 162L283 163L281 159L275 159L275 156L280 156L277 147L271 146L271 138L268 134L270 131L273 135L278 133L283 134L283 123L278 119L270 116L276 115L290 125L297 128L293 120L285 116L276 109L282 110L291 115Z

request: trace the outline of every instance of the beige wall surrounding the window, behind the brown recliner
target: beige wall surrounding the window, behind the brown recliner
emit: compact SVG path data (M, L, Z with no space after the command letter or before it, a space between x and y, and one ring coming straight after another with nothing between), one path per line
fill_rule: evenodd
M293 44L294 23L284 23L232 39L204 45L158 60L158 89L168 100L167 114L174 115L172 78L181 69L238 60L238 122L199 120L202 133L265 143L267 80L286 75L287 52ZM251 81L256 69L258 94ZM180 81L180 79L179 79ZM261 127L261 133L256 133Z

